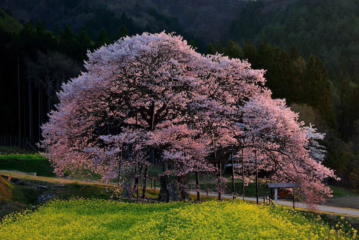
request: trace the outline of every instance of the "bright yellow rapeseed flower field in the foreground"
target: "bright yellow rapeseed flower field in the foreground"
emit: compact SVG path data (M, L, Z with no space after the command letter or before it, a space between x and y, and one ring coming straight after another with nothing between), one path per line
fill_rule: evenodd
M291 209L234 202L139 204L53 200L0 223L2 240L356 239Z

